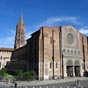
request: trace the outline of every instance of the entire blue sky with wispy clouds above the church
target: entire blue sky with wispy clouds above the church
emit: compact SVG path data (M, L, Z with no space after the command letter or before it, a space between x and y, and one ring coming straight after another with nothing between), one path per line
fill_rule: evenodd
M21 13L26 39L41 26L68 24L88 35L88 0L0 0L0 47L14 47Z

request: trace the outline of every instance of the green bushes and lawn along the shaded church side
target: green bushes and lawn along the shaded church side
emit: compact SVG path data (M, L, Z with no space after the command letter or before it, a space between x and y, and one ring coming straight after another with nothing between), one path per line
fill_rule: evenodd
M10 79L10 80L34 80L36 73L34 70L23 72L22 70L16 70L14 75L7 73L6 68L0 70L0 79Z

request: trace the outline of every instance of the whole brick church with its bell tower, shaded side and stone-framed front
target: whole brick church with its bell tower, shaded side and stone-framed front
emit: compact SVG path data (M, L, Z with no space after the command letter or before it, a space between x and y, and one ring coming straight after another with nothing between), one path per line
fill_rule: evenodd
M79 77L88 71L88 37L72 25L41 27L26 41L22 17L16 28L9 71L33 69L39 80Z

